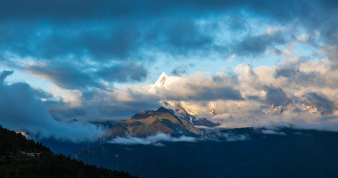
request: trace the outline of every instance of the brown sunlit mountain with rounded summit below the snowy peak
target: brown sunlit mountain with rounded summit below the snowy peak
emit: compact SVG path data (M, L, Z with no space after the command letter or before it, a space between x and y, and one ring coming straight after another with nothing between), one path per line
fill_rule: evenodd
M174 117L169 110L160 107L156 111L144 111L108 129L101 138L115 136L150 136L158 133L178 135L202 135L203 132L183 119Z

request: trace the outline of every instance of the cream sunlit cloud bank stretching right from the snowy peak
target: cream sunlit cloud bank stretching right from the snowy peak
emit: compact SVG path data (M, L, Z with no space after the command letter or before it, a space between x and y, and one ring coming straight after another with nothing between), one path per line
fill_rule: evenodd
M338 123L338 69L328 69L330 63L295 58L272 67L241 64L231 75L169 76L155 91L149 85L114 92L135 101L145 101L150 95L176 101L189 113L226 128L289 124L338 131L334 127Z

